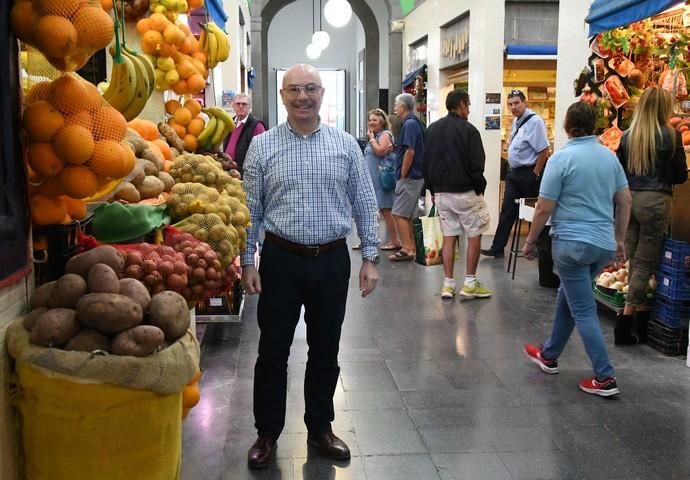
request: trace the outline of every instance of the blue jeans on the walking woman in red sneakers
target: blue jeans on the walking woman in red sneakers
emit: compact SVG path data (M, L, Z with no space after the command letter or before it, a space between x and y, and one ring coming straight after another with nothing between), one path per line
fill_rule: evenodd
M592 281L613 260L615 252L585 242L554 238L552 253L561 286L556 297L553 330L544 343L542 355L549 360L558 358L577 325L595 376L598 380L611 377L613 367L599 325Z

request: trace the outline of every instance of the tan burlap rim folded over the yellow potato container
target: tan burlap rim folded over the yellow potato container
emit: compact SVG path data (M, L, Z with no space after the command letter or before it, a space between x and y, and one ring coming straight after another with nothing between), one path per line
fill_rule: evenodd
M29 343L22 319L7 330L7 350L19 368L27 362L44 375L78 383L109 383L159 394L181 392L199 366L199 342L188 330L168 348L148 357L97 355L39 347Z

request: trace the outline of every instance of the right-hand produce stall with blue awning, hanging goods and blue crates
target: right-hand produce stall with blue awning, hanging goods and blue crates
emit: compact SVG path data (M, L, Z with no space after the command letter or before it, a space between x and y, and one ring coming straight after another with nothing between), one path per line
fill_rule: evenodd
M616 151L630 125L640 96L660 86L673 97L670 125L690 153L690 5L678 1L597 0L590 24L591 56L576 78L575 95L594 105L600 140ZM683 355L687 348L690 310L690 182L674 189L670 236L656 278L649 284L649 344L662 353ZM686 253L683 253L686 252ZM627 292L627 265L602 272L596 279L597 300L620 312ZM655 293L654 293L655 292ZM653 305L653 306L652 306Z

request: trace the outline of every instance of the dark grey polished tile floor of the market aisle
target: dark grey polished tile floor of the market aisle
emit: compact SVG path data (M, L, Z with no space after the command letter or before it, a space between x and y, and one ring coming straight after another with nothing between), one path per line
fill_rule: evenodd
M299 328L277 462L247 469L259 337L250 298L241 325L205 329L202 399L184 426L184 480L690 478L685 360L647 346L614 348L613 317L602 311L621 395L578 390L591 369L577 333L561 373L541 373L522 345L548 334L555 291L537 286L535 263L519 260L510 280L503 260L482 259L480 277L496 293L471 301L441 300L441 267L385 259L376 292L362 299L359 265L353 255L333 424L352 460L332 462L307 448ZM459 262L456 278L463 272Z

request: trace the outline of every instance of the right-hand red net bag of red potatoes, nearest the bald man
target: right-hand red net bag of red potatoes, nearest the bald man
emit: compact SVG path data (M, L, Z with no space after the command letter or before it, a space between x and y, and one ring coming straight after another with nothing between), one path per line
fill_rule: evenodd
M218 254L189 233L166 237L166 243L183 255L189 272L189 283L180 292L189 301L210 297L223 287L223 270ZM171 248L168 247L168 248Z

